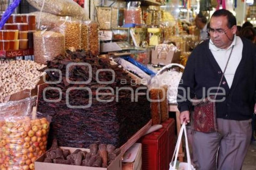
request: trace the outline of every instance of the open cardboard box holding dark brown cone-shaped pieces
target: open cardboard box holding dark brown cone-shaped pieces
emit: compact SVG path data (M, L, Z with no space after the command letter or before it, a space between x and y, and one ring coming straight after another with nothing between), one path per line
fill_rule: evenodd
M69 149L70 153L73 153L76 149L74 147L61 147L61 149ZM89 149L81 149L82 151L89 152ZM108 165L108 168L97 168L97 167L88 167L88 166L77 166L77 165L63 165L55 163L45 163L46 153L40 156L35 161L35 170L122 170L122 156L119 154L116 159Z

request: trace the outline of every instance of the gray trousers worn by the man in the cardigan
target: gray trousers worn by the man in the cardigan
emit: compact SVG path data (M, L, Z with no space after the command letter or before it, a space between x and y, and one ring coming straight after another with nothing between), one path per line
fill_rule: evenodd
M192 161L197 170L241 170L250 141L251 119L217 119L218 132L193 132Z

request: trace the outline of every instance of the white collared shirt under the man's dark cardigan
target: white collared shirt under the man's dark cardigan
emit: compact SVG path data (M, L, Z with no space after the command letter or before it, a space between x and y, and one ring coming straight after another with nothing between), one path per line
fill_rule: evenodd
M230 44L230 46L227 49L220 49L216 47L211 40L209 42L209 49L211 50L222 72L225 69L225 66L233 45L234 45L233 52L230 56L229 63L227 65L227 68L224 74L229 88L231 88L236 69L242 59L243 42L241 38L236 35L234 35L233 42Z

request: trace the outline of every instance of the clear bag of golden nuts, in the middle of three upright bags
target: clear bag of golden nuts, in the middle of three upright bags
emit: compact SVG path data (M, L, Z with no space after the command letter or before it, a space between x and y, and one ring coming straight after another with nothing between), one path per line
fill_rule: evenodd
M81 49L81 18L61 17L60 32L65 36L65 50Z

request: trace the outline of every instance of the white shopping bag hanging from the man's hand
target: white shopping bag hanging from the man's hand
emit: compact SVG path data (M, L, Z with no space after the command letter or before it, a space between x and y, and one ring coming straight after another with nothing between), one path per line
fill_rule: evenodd
M188 162L180 162L179 164L179 168L176 168L176 163L177 163L177 158L178 158L178 148L180 148L180 143L182 140L182 134L184 131L184 135L185 135L185 143L186 143L186 152L187 152L187 158L188 158ZM175 155L175 159L173 162L173 158ZM180 129L180 134L178 136L178 140L177 140L177 144L173 153L173 158L172 161L170 162L170 169L169 170L195 170L195 168L193 167L193 165L191 165L191 159L190 159L190 154L189 154L189 144L188 144L188 138L187 138L187 131L186 131L186 125L185 123L183 123L183 125L181 126Z

